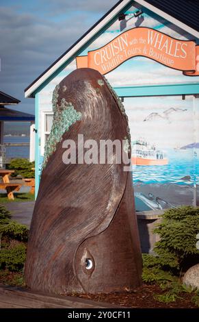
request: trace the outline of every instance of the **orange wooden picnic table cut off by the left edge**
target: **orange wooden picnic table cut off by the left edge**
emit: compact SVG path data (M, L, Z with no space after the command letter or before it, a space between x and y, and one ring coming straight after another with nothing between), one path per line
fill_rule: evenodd
M0 176L3 182L0 183L0 189L5 189L7 191L8 199L14 200L14 191L18 191L21 188L21 184L11 183L10 175L14 173L14 170L0 169Z

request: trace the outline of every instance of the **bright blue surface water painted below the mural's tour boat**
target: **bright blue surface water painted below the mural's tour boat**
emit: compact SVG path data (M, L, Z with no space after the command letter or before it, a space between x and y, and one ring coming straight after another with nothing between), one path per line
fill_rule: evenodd
M199 184L199 149L165 150L169 163L164 166L133 166L133 182L145 184ZM182 179L185 177L184 179ZM190 177L190 179L189 179Z

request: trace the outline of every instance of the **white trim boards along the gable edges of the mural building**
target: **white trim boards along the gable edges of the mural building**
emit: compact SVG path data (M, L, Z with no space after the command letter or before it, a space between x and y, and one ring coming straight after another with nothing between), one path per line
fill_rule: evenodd
M25 91L25 97L31 97L31 95L36 92L36 90L49 78L59 67L61 67L64 63L66 63L67 60L69 60L72 55L75 55L77 51L79 51L85 44L88 42L95 34L100 32L111 19L114 18L117 14L119 14L122 9L130 3L131 0L123 0L122 3L119 3L114 10L112 10L105 18L98 23L88 34L85 35L66 55L64 55L62 58L60 58L52 67L49 69L44 75L42 75L34 84L32 84L31 87L29 87ZM165 18L166 20L170 21L174 25L180 27L183 30L186 30L186 32L189 32L189 34L192 34L196 38L199 38L199 32L196 32L196 30L192 29L191 27L185 25L185 23L182 23L181 21L178 21L176 18L170 16L169 14L166 14L162 10L159 10L154 5L150 5L148 2L144 0L136 0L135 3L139 3L140 5L143 5L144 7L148 8L152 12L155 12L159 16ZM132 3L133 5L133 3Z

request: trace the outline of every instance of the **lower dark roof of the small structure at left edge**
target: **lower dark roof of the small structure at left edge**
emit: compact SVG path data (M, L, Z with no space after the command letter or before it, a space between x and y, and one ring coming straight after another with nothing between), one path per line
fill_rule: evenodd
M35 116L0 106L0 121L34 121Z

